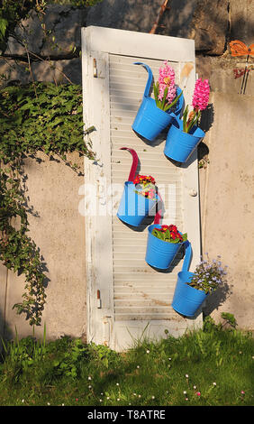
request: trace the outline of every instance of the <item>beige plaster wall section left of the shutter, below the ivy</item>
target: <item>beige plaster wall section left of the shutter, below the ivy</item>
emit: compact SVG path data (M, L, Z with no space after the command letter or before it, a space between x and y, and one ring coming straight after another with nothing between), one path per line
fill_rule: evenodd
M27 159L23 167L32 209L30 236L40 247L47 276L47 303L35 334L41 336L46 324L49 337L66 334L86 338L85 223L78 212L84 177L63 162L50 161L42 153L38 157L41 162ZM84 169L83 158L76 153L68 158ZM14 336L16 327L19 336L32 335L25 315L13 310L14 303L22 301L23 275L1 265L0 278L0 333Z

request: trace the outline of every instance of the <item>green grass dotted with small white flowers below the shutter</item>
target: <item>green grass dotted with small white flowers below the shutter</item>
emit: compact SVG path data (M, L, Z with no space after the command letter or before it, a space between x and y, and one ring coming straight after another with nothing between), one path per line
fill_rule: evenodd
M247 406L254 403L254 341L209 318L204 329L124 353L68 336L5 343L0 406Z

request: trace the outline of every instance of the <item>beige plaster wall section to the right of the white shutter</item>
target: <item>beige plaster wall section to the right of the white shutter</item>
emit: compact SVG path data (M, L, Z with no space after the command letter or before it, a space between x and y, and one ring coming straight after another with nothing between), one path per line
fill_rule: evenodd
M205 314L235 315L239 327L254 327L254 97L213 93L214 120L205 136L209 165L202 181L203 251L228 265L228 287L211 296Z

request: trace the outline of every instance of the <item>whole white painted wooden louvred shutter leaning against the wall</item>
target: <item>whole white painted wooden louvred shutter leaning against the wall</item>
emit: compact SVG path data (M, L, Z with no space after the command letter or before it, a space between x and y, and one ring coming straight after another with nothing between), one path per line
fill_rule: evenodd
M94 26L82 29L84 121L95 125L90 138L97 154L94 163L85 161L87 337L116 350L131 346L144 330L150 337L165 336L165 329L177 336L201 324L200 317L183 318L170 306L181 254L169 272L155 271L145 262L146 227L133 231L116 217L132 165L131 154L120 148L130 147L139 155L139 172L152 175L159 186L166 207L163 223L187 232L193 246L190 270L195 268L200 257L196 152L188 163L176 166L163 153L166 134L156 143L144 143L132 131L148 78L133 62L148 64L157 80L164 60L175 69L180 87L182 69L193 64L185 88L190 104L194 41Z

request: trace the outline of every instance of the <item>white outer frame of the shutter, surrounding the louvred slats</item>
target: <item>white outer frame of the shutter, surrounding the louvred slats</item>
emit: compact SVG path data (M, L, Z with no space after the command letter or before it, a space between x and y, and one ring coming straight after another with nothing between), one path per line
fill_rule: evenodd
M186 103L190 104L195 86L195 41L96 26L82 28L81 41L84 122L86 127L95 125L95 132L89 137L97 155L97 161L85 159L85 185L95 186L96 205L100 207L104 202L100 198L100 186L111 181L109 54L168 59L179 62L180 69L186 63L192 64L185 90ZM196 154L182 167L183 218L193 246L191 270L199 262L201 252ZM87 340L114 348L112 218L107 214L104 217L86 215L85 219ZM100 290L101 308L98 308L97 290Z

